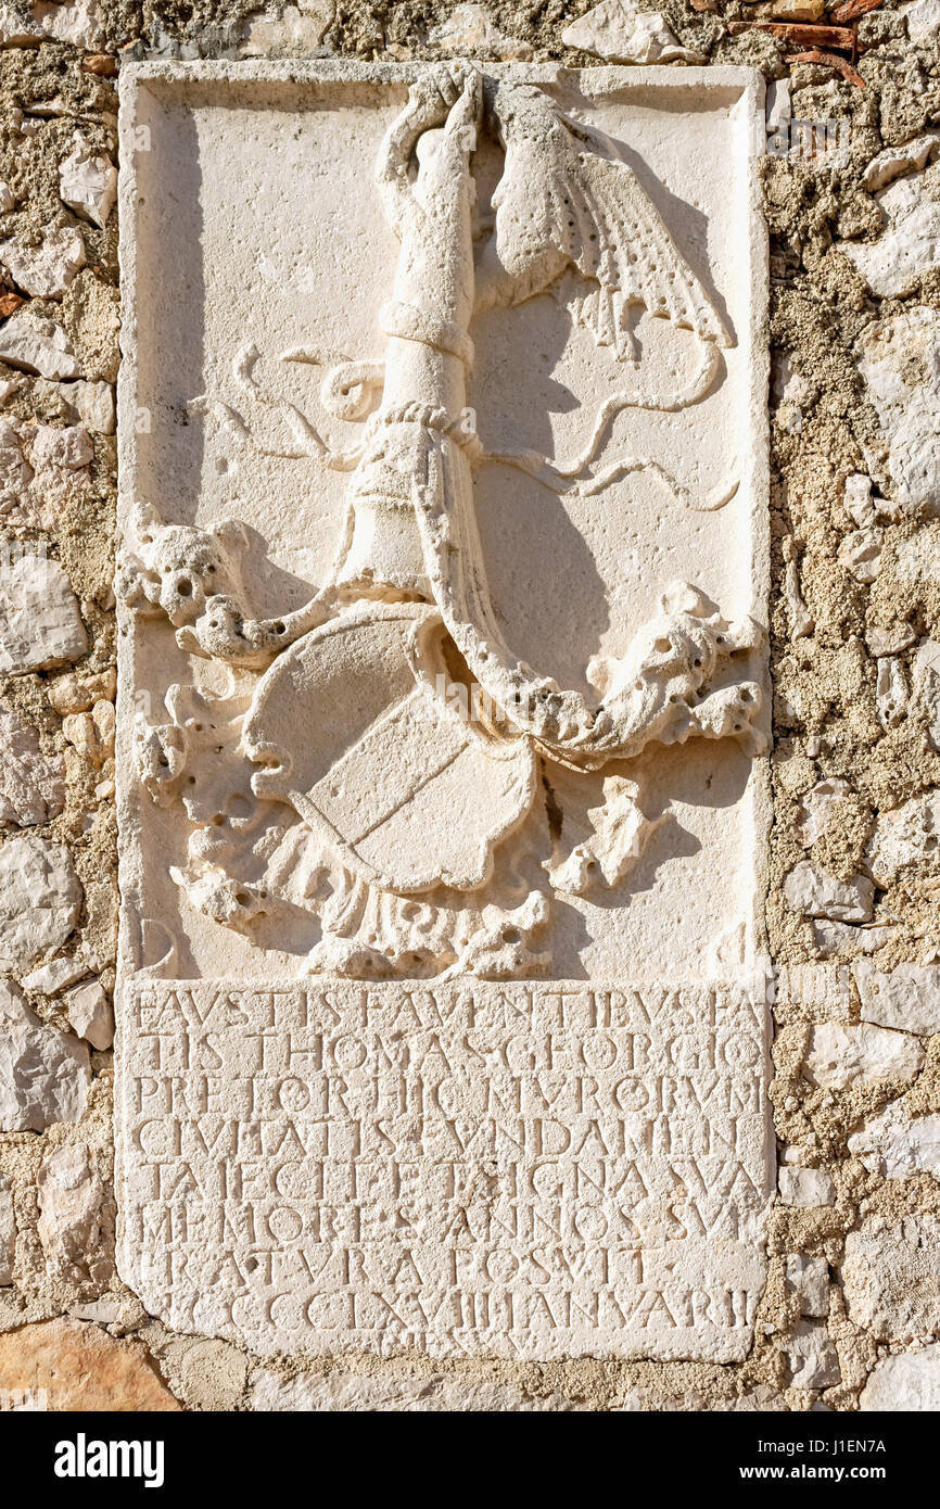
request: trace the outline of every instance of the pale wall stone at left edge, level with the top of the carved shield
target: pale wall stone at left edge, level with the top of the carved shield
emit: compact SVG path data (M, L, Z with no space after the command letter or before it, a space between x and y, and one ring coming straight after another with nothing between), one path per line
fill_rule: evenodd
M78 601L57 561L21 555L0 566L0 670L47 670L86 649Z

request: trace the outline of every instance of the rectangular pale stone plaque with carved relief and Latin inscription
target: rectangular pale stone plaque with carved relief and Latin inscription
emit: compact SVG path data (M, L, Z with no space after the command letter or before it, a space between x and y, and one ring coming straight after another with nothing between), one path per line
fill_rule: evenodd
M760 88L122 71L121 1265L181 1331L748 1349Z

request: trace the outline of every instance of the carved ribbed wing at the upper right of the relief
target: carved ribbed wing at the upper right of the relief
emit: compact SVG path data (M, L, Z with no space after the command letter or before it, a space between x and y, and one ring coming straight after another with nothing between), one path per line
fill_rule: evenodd
M573 300L573 315L619 361L634 355L634 305L702 341L730 346L700 279L626 163L590 149L587 133L539 89L499 83L490 110L505 167L477 269L480 306L524 303L573 267L594 285Z

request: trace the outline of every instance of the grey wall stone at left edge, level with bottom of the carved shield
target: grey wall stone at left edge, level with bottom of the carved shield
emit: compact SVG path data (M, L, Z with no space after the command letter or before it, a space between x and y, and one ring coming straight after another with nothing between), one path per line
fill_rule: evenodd
M81 905L63 844L14 837L0 844L0 969L18 969L62 948Z

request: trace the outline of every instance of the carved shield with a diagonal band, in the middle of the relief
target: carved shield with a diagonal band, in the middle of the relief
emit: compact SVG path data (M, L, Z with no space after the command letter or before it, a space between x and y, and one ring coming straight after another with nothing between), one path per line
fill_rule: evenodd
M287 801L374 886L483 886L530 809L531 739L465 715L441 616L359 604L305 635L261 679L244 723L260 797Z

